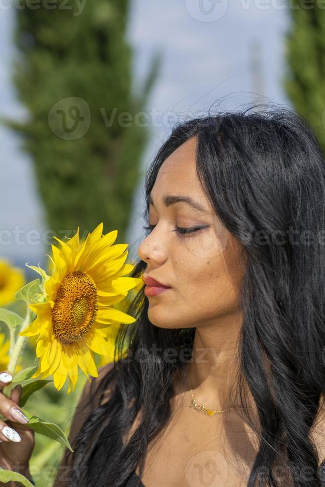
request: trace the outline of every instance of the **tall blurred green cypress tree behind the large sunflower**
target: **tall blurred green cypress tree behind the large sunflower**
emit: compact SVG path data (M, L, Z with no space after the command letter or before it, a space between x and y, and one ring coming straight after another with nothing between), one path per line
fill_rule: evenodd
M123 243L149 136L139 114L161 55L135 93L129 0L34 3L21 0L16 10L13 64L29 117L2 121L22 136L34 162L48 228L63 239L103 222L104 233L117 229Z

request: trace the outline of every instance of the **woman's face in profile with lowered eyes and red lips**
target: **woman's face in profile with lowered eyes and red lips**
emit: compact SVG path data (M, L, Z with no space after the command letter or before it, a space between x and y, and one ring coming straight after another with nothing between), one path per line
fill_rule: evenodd
M163 162L151 192L154 228L138 248L147 262L144 276L170 286L148 296L148 318L163 328L215 325L238 312L243 247L221 225L201 188L195 150L192 137ZM166 196L191 198L202 208L170 198L164 202ZM179 227L200 229L181 234Z

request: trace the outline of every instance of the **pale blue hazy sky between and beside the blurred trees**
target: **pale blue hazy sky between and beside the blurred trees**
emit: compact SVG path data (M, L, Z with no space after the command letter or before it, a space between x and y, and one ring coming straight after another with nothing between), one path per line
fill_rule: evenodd
M163 53L161 76L147 107L149 121L150 114L156 111L162 115L173 113L172 120L176 122L182 117L203 113L221 99L222 108L236 109L253 101L257 95L266 97L263 101L290 106L281 86L285 69L284 34L289 28L287 10L278 5L280 2L272 0L232 3L201 0L205 8L202 13L199 2L130 2L127 36L133 46L134 89L141 86L154 51L159 49ZM207 14L209 9L211 14ZM12 44L14 13L11 7L2 9L0 15L0 116L19 118L26 112L17 101L10 81L10 63L15 55ZM218 15L220 18L213 18ZM258 84L261 91L256 94L251 73L252 43L259 47L261 57L261 82ZM169 131L168 123L151 128L150 141L143 154L144 165L152 159ZM21 152L19 139L3 127L0 127L0 167L1 229L12 232L18 227L25 232L32 229L42 234L46 224L32 163ZM134 213L127 240L130 256L136 256L142 238L142 184L134 195ZM19 244L17 238L11 238L12 243L4 245L4 240L1 240L1 256L20 265L42 263L45 253L42 245Z

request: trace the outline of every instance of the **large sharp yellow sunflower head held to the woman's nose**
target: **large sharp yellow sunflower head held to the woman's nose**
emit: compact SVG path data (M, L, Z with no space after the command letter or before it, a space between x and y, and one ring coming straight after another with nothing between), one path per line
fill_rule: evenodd
M54 237L61 248L51 245L52 275L33 267L44 278L44 302L29 305L37 318L19 333L39 335L36 356L40 363L33 378L44 379L52 374L59 390L68 376L68 394L75 389L78 366L88 380L88 374L98 377L93 352L111 355L112 325L136 320L111 306L122 301L141 281L123 277L134 268L124 263L128 244L112 245L117 230L106 235L102 235L102 230L100 223L82 243L79 227L67 242Z

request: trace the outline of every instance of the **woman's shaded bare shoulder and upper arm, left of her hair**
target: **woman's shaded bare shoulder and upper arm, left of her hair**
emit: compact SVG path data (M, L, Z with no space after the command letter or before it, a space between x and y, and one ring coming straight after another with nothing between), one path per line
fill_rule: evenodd
M86 381L71 423L70 433L68 436L71 445L79 434L81 427L90 412L108 401L114 387L113 384L110 384L110 387L107 389L107 391L105 391L102 402L99 404L101 388L98 389L98 383L112 368L113 363L106 364L98 369L98 377L92 377L91 382L88 380ZM68 456L69 453L71 452L68 450L68 448L66 448L61 459L60 466L58 467L58 473L53 487L69 487L70 485L69 480L71 465L69 465L69 460L71 457Z

